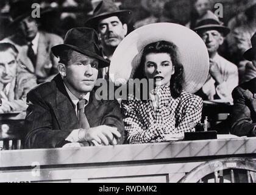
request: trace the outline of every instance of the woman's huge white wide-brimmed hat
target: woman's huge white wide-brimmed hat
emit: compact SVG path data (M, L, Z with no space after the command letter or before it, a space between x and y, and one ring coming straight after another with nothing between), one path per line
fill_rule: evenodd
M201 37L185 26L154 23L142 26L121 41L110 62L109 76L115 85L123 85L140 64L143 48L156 41L170 41L179 48L180 62L185 71L183 90L195 93L204 85L209 71L207 48Z

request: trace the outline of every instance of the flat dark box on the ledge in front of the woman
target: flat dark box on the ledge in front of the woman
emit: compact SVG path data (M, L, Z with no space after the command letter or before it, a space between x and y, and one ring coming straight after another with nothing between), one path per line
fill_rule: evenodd
M189 140L213 140L217 139L216 130L210 130L207 132L185 132L184 141Z

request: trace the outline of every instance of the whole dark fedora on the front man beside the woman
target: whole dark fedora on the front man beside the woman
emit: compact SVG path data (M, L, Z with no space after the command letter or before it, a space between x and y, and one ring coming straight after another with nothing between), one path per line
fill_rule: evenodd
M53 46L51 49L56 57L60 57L66 49L72 49L98 59L100 61L99 68L104 68L109 66L109 62L102 57L97 43L98 36L94 29L78 27L68 30L64 38L64 43Z

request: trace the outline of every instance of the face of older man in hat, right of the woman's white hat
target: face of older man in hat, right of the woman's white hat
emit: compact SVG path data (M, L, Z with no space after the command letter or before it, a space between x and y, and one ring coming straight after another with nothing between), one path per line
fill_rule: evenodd
M209 54L217 52L224 41L224 38L217 30L202 30L199 35L204 40Z

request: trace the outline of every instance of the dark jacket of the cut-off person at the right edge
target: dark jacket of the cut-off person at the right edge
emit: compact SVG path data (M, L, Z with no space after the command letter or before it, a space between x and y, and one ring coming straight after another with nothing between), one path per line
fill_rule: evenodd
M234 105L231 115L231 133L255 137L256 127L256 78L242 83L232 92Z

